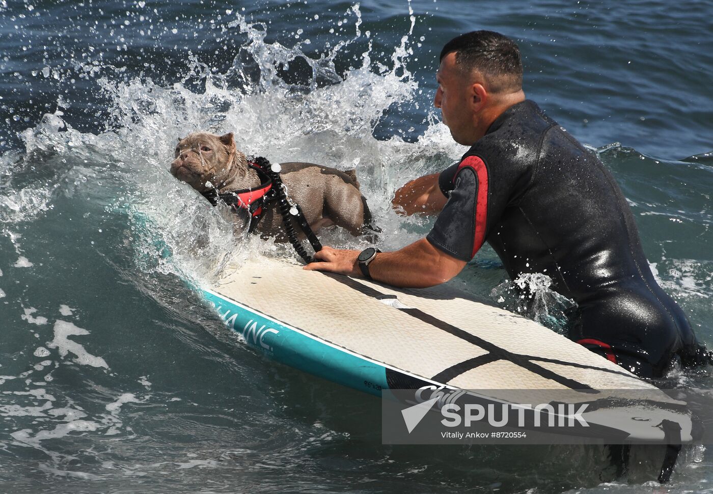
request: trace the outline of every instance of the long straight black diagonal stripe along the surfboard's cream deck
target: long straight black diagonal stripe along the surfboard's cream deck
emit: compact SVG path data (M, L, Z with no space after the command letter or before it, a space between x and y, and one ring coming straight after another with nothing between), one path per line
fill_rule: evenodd
M325 276L337 280L337 282L339 283L347 285L347 287L353 288L356 291L361 292L362 294L368 297L376 299L377 297L384 296L384 294L379 292L379 290L367 287L366 285L361 284L349 277L325 272L323 272L323 274ZM598 391L593 389L591 386L588 386L587 384L580 383L578 381L575 381L574 379L569 379L565 376L560 376L560 374L550 371L549 369L545 369L544 367L535 364L533 361L528 360L526 356L520 354L513 354L511 351L502 349L500 346L497 346L496 344L493 344L490 341L484 340L474 334L470 334L468 333L468 331L463 331L463 329L453 326L452 324L448 324L446 321L441 321L441 319L433 317L431 316L431 314L426 314L426 312L423 312L420 309L398 310L400 310L401 312L405 312L406 314L409 314L409 316L415 317L420 321L424 321L426 324L431 324L431 326L435 326L438 329L442 329L443 331L446 331L447 333L452 334L453 336L457 336L460 339L468 341L468 343L480 346L483 350L488 351L489 354L493 354L493 361L510 361L513 364L522 367L523 369L526 369L530 372L533 372L534 374L537 374L540 377L543 377L544 379L550 379L551 381L555 381L556 383L562 384L563 386L567 386L568 388L577 389L585 392L598 393ZM446 371L447 370L448 369L446 369ZM434 381L436 381L436 379L434 379Z

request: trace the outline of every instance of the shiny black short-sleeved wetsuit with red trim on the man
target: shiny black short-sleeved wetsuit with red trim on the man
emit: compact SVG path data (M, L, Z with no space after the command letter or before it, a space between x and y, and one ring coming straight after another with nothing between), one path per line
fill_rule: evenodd
M614 178L532 101L500 115L439 185L449 200L429 242L464 261L488 242L511 278L547 274L579 306L570 339L644 377L675 356L704 359Z

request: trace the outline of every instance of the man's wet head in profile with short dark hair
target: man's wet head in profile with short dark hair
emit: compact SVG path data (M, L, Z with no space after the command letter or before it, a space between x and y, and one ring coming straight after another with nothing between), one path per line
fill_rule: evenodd
M525 99L520 50L493 31L451 39L441 51L434 105L457 143L472 145L503 110Z

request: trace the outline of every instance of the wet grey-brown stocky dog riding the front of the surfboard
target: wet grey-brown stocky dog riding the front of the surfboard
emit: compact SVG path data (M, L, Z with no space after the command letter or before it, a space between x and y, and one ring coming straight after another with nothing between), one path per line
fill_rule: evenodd
M280 166L289 198L302 209L313 231L338 225L356 237L369 230L371 213L354 170L298 162ZM232 133L195 132L179 139L170 173L206 197L261 185L260 175L237 149ZM282 215L276 205L265 209L256 231L262 237L280 237Z

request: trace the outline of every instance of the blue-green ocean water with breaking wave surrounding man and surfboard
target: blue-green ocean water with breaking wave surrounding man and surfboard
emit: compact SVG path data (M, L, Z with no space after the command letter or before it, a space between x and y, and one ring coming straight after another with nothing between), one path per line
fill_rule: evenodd
M356 168L389 207L463 153L431 106L441 46L518 40L525 93L612 170L652 269L713 346L713 70L703 1L0 0L0 492L713 492L705 448L664 488L563 446L381 445L378 399L276 364L183 279L254 255L170 173L175 141ZM340 232L324 243L356 246ZM506 279L484 249L454 281ZM713 385L709 369L679 386ZM607 480L603 482L602 480Z

